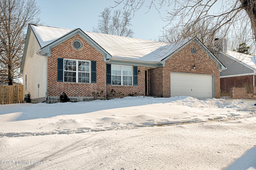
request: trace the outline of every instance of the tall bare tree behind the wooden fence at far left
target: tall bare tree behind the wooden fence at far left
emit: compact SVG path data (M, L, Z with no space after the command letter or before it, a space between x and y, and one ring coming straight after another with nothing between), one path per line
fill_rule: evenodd
M26 29L40 8L35 0L0 0L0 71L7 75L8 85L22 77L20 66L26 40Z

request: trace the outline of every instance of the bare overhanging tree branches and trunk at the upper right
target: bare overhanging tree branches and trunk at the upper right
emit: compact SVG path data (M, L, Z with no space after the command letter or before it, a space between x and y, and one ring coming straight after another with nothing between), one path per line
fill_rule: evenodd
M228 31L234 28L236 22L249 19L250 23L244 23L242 26L249 26L254 42L256 39L255 0L115 0L115 3L116 6L123 6L124 11L133 14L143 6L147 6L148 10L155 8L158 11L166 8L167 14L161 18L168 22L173 30L182 30L182 27L193 30L191 28L196 24L202 26L210 24L212 32L208 37L209 42L213 42L216 38L214 37L216 32L221 32L224 38L230 34Z

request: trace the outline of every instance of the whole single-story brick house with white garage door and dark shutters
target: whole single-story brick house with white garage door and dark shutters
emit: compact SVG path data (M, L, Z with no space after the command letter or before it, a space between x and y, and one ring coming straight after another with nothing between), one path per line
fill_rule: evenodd
M175 44L28 26L21 73L32 102L150 95L220 97L224 65L198 40ZM39 99L38 99L39 98Z

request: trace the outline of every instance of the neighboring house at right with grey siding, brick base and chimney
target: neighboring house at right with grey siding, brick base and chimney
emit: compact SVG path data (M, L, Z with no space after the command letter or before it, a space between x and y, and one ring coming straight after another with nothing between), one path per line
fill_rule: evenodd
M233 99L256 99L256 57L227 50L223 40L215 41L212 53L227 68L220 73L220 90Z

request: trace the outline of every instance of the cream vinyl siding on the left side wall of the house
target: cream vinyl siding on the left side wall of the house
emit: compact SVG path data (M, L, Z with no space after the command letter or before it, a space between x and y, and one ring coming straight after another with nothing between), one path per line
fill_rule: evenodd
M40 46L31 32L23 70L23 85L27 87L23 92L24 95L30 93L31 99L38 98L38 84L40 84L39 97L45 97L46 94L46 57L36 54L38 49ZM27 75L27 82L25 75Z

